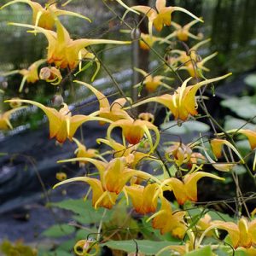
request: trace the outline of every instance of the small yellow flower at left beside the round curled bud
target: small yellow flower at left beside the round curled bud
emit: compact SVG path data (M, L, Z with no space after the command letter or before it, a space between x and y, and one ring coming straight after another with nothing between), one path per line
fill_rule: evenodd
M39 60L34 63L27 69L20 69L20 70L14 70L9 73L3 73L3 76L9 76L11 74L20 73L23 76L23 79L20 83L20 89L19 92L23 90L25 82L27 83L36 83L39 80L38 77L38 67L43 64L46 60Z

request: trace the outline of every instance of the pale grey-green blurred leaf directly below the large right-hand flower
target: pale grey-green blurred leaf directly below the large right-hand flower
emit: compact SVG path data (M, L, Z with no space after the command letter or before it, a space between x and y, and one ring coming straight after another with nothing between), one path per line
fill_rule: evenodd
M161 130L172 134L185 134L193 131L206 132L210 130L209 125L199 121L186 121L182 125L177 125L177 121L170 121L160 125Z

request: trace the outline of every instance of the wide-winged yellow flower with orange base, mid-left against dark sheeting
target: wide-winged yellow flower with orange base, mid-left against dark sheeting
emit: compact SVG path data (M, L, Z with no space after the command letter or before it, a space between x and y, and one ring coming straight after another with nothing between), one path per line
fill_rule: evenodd
M102 119L100 117L93 117L90 115L77 114L73 115L66 103L63 103L63 107L57 111L55 108L45 107L43 104L33 102L29 100L9 100L6 102L23 102L32 104L44 111L49 119L49 137L55 137L59 143L64 143L66 139L72 140L74 133L77 131L80 125L90 120L102 120L110 122L108 119Z

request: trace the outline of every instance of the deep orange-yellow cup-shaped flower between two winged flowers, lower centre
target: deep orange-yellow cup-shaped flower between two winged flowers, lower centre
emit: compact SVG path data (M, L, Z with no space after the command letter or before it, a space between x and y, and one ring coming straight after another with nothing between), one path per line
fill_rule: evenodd
M132 205L137 213L147 214L155 212L157 197L154 196L159 185L157 183L125 186L125 192L131 197Z

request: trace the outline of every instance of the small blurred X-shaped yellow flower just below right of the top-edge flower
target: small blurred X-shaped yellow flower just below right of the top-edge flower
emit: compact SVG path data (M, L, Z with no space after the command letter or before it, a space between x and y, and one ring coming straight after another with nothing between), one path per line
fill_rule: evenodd
M192 20L191 22L189 22L185 26L180 26L176 22L172 21L171 25L175 28L175 31L172 32L172 34L170 34L166 38L164 38L163 42L165 42L166 40L169 40L170 38L173 38L173 37L177 37L177 39L180 40L180 41L188 41L189 38L194 38L196 40L201 40L202 34L199 34L198 36L195 36L195 35L193 35L189 32L190 27L195 25L198 21L199 20Z

